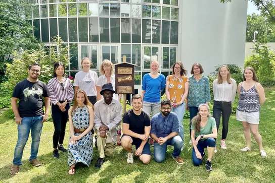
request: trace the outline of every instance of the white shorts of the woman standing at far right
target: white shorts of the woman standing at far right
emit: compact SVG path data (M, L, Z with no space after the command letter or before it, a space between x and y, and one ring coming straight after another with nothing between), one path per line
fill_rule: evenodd
M236 110L236 119L239 121L247 122L249 124L259 124L260 122L260 112L244 112Z

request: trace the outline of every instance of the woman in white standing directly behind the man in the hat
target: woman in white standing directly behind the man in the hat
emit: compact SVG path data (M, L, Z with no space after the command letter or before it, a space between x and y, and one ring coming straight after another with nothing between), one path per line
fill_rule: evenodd
M115 75L114 75L114 65L113 63L105 59L103 60L103 63L100 67L100 73L102 74L97 81L97 99L98 101L103 98L103 96L100 94L100 91L102 89L102 86L106 83L111 83L113 86L113 90L115 90ZM121 95L113 94L113 99L121 100ZM120 142L120 135L121 135L121 126L119 125L117 127L117 145L121 145Z

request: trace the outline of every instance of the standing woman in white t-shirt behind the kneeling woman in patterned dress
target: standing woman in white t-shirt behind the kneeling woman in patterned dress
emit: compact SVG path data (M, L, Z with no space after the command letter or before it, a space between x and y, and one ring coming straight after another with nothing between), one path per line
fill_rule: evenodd
M87 94L90 103L95 105L97 102L97 88L98 74L90 70L90 60L87 57L81 59L82 70L76 73L74 78L75 93L81 89Z

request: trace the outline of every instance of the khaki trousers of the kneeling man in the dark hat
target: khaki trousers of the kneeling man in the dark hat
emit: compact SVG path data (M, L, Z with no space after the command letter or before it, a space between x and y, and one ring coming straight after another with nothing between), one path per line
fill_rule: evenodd
M99 157L104 158L106 156L112 156L113 152L115 151L116 143L106 143L106 138L101 138L98 136L97 144L99 150Z

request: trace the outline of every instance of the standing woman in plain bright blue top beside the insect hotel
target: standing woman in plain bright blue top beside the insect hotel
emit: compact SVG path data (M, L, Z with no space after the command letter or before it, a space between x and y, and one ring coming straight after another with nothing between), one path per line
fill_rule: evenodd
M165 77L158 73L159 62L152 60L150 63L151 73L144 75L142 80L143 110L151 118L160 111L160 93L165 87Z

